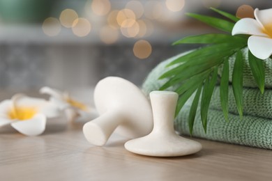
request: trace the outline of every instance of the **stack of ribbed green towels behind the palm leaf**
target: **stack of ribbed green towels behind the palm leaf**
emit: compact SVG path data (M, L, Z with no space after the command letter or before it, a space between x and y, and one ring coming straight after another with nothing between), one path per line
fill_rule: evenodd
M247 54L248 49L243 49L244 58L247 57ZM158 80L158 77L163 72L169 70L169 68L165 68L165 65L176 59L176 57L163 61L150 72L142 85L142 89L146 95L149 95L151 91L158 90L167 81L167 79ZM234 57L229 60L229 81L232 80L233 65ZM229 123L225 121L220 104L220 88L216 86L209 107L207 132L205 134L198 111L192 135L214 141L272 149L272 90L269 89L272 87L271 59L265 61L265 75L266 90L264 91L264 95L262 95L255 84L255 80L252 78L248 61L245 61L243 72L243 120L240 120L236 110L234 95L230 86ZM169 88L168 90L174 91L174 88ZM181 109L174 123L176 131L181 134L190 134L188 127L190 104L191 101L189 100L186 106Z

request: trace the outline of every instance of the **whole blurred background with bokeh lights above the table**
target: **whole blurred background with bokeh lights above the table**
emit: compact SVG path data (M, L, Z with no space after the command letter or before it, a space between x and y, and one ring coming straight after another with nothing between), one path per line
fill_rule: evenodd
M194 48L172 42L215 31L185 15L216 15L211 6L243 15L272 1L0 0L0 91L86 93L107 76L140 86L165 58Z

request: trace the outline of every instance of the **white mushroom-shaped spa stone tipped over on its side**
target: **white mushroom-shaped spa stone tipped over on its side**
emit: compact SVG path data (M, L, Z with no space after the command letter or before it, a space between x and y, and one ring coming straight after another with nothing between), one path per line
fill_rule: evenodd
M114 132L130 139L149 134L153 127L149 100L130 81L107 77L96 85L94 103L100 116L83 127L93 145L104 145Z

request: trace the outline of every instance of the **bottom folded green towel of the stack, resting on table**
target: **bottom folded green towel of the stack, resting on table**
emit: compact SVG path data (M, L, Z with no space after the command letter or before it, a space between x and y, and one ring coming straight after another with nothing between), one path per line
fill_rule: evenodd
M183 107L176 118L175 129L181 134L190 134L189 111L190 107ZM209 109L206 134L200 115L197 113L192 135L214 141L272 149L272 121L255 116L243 116L243 120L240 120L238 115L229 113L229 123L227 123L222 111Z

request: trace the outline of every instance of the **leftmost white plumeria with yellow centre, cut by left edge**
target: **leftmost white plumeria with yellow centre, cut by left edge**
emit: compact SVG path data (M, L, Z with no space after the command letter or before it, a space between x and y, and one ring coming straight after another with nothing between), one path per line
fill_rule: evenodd
M59 116L59 109L40 98L17 94L0 102L0 127L11 125L27 136L42 134L47 118L56 116Z

